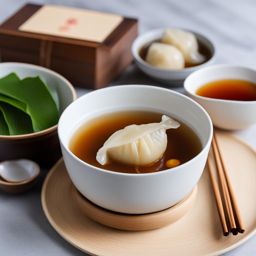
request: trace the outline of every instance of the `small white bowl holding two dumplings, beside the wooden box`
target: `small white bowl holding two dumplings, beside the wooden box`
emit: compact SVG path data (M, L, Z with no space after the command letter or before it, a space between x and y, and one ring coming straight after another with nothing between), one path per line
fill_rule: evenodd
M142 34L134 41L132 45L132 54L133 54L135 63L137 64L139 69L145 74L157 80L168 82L171 85L180 85L181 82L183 82L184 79L189 74L191 74L192 72L202 67L205 67L213 63L216 55L215 53L216 50L213 42L197 32L187 30L195 34L199 43L199 50L204 48L207 52L209 52L210 57L206 60L206 62L194 67L184 68L181 70L166 70L166 69L157 68L148 64L145 60L142 59L140 55L140 51L143 47L149 45L150 43L154 41L158 41L163 36L164 31L165 29L157 29L157 30L152 30L145 34Z

